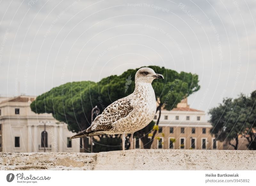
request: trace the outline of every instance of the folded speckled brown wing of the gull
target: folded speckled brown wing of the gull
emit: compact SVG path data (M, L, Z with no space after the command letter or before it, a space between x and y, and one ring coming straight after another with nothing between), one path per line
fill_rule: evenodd
M131 105L131 99L124 97L118 99L95 118L92 122L92 126L88 130L95 132L109 131L113 128L112 123L126 117L133 110ZM87 132L89 132L87 130Z

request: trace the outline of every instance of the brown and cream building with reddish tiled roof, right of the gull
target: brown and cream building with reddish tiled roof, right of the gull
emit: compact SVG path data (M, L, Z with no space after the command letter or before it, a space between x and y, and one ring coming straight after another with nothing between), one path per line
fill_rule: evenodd
M157 117L156 114L155 122ZM158 132L151 148L223 149L222 142L215 141L215 137L210 134L211 128L212 125L205 119L204 111L190 108L187 99L184 99L171 111L162 109ZM137 148L142 147L140 140L136 142Z

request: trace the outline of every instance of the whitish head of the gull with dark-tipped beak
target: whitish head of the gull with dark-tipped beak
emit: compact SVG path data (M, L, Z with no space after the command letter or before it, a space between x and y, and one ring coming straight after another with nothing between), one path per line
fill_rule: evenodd
M164 79L162 74L156 74L152 68L143 67L140 68L135 74L135 81L144 82L144 83L152 83L154 79Z

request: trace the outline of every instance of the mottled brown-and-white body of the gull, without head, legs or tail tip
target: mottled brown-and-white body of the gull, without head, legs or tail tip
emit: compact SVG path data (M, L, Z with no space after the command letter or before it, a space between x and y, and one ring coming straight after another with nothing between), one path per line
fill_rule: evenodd
M94 120L92 128L88 129L102 131L105 134L131 133L147 126L155 113L154 90L150 83L144 83L133 94L109 105Z

